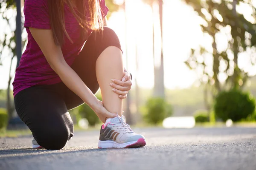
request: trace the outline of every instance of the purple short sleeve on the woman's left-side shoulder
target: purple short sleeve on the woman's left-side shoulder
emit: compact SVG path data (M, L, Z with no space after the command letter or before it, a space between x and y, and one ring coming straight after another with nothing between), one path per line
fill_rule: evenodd
M51 29L47 0L25 0L24 27Z

